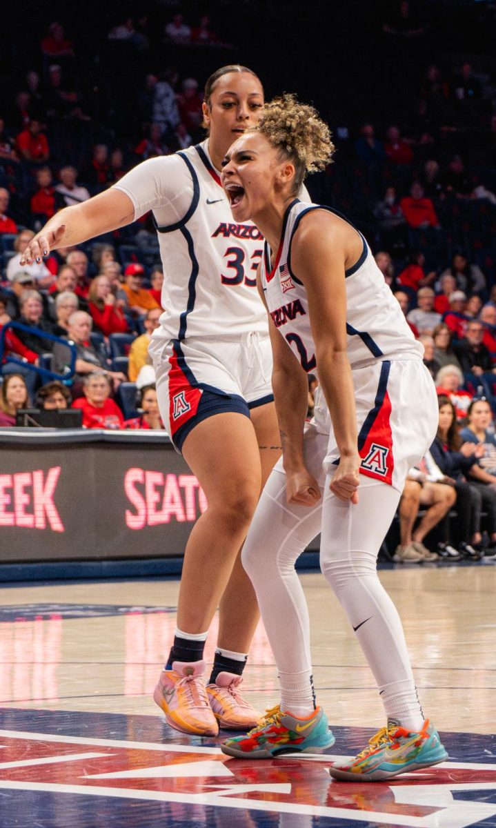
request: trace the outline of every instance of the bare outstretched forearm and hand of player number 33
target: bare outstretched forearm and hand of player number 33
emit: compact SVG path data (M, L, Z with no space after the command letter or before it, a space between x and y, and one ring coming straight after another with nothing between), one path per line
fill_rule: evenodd
M132 200L111 188L79 205L65 207L36 233L22 253L21 264L41 262L51 250L86 242L89 238L124 227L134 220Z

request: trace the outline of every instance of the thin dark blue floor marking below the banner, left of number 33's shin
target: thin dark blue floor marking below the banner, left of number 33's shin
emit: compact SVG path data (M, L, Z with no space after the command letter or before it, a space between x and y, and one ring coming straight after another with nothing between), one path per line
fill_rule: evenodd
M0 607L2 621L30 621L34 619L84 619L103 615L128 615L131 613L175 613L177 607L123 607L120 604L13 604Z

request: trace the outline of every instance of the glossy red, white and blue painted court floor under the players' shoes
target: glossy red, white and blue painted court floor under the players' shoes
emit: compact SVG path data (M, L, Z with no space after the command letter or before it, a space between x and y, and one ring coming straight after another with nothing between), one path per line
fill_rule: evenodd
M447 763L360 784L331 780L327 767L373 731L333 730L328 756L226 761L220 739L158 716L3 709L0 825L496 828L496 736L443 733Z

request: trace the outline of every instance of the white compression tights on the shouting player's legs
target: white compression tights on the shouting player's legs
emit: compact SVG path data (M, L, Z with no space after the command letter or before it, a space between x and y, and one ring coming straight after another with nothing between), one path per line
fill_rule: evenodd
M243 566L253 581L282 683L283 709L303 715L308 708L310 624L295 561L320 532L322 573L355 630L387 715L407 729L421 729L402 623L376 568L400 493L361 475L359 503L344 503L330 493L329 483L328 477L323 501L314 508L292 505L286 499L286 476L272 471L243 546Z

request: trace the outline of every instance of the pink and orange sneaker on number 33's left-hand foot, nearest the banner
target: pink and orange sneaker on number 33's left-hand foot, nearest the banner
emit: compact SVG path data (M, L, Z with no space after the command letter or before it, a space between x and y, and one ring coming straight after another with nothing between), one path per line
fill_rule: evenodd
M181 733L216 736L219 725L209 705L202 678L205 662L173 662L162 670L153 698L166 714L166 722Z

